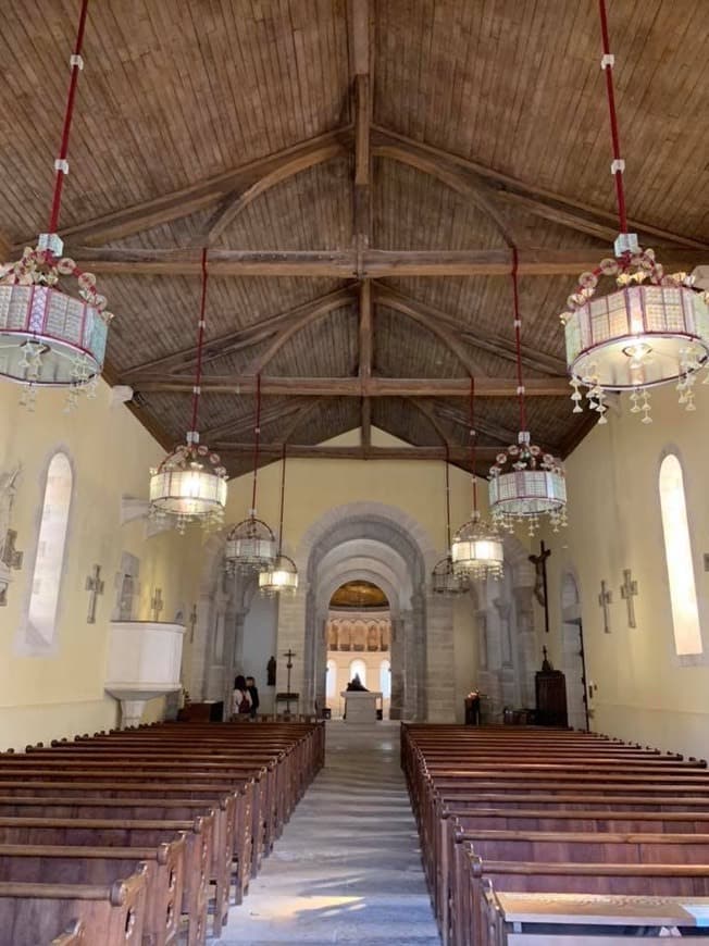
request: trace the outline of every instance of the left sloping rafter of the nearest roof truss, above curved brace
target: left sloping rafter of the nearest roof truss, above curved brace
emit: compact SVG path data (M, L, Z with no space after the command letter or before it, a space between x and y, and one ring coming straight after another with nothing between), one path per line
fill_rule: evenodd
M351 140L351 125L334 128L332 132L326 132L315 138L299 141L296 145L284 148L282 151L266 154L263 158L257 158L246 164L237 165L222 174L207 177L203 181L198 181L170 194L141 201L140 203L133 204L133 207L101 214L83 223L62 227L60 236L65 241L73 241L74 244L101 242L122 239L160 224L171 223L174 220L189 216L206 207L211 207L216 201L232 194L235 188L252 184L272 174L278 167L293 164L294 161L297 161L303 154L318 152L324 146L335 142L344 147ZM36 235L26 237L18 240L12 247L12 250L20 252L25 245L34 246L35 241Z

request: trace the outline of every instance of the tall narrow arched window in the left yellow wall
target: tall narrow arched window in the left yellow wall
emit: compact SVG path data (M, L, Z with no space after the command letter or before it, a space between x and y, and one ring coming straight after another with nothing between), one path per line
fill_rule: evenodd
M65 453L54 453L47 470L27 612L27 637L40 647L49 646L54 639L72 482L69 458Z

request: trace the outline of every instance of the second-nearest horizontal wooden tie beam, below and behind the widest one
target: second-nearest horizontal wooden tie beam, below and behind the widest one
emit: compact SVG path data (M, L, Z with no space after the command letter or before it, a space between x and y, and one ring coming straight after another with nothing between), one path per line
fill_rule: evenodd
M136 387L142 393L172 391L192 393L195 381L187 375L153 375L146 377ZM569 379L563 377L527 378L526 396L569 397ZM202 394L239 395L253 394L257 387L254 375L208 375L202 378ZM439 377L270 377L261 378L261 394L269 396L302 397L469 397L470 378ZM476 397L517 398L517 378L477 377Z

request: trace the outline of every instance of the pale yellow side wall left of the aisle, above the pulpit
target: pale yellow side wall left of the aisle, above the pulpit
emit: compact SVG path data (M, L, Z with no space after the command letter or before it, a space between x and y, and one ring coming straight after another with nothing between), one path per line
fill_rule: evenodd
M183 568L184 542L169 533L147 539L145 522L120 522L121 497L146 497L149 469L163 456L152 436L125 406L110 406L111 391L103 383L95 400L82 398L71 414L63 412L62 391L40 391L30 413L18 406L20 390L0 384L0 470L22 463L12 526L25 556L22 571L14 572L8 607L0 609L1 748L115 725L117 704L104 695L103 682L123 550L140 559L139 618L150 617L156 586L165 602L163 620L172 620L194 599L191 575ZM58 449L67 453L74 471L58 647L52 656L23 657L16 652L16 636L27 607L47 465ZM85 582L95 563L101 565L105 587L97 621L88 624ZM159 711L160 701L153 701L147 718Z

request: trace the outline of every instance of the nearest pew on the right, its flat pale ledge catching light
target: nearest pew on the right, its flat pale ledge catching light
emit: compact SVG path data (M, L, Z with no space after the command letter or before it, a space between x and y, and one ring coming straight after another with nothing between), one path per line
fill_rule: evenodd
M483 928L494 946L571 946L586 939L594 946L627 946L629 936L667 944L672 931L697 935L692 907L709 909L709 897L633 897L593 894L497 894L483 882ZM651 930L658 935L648 935Z

